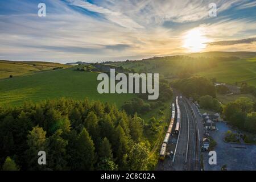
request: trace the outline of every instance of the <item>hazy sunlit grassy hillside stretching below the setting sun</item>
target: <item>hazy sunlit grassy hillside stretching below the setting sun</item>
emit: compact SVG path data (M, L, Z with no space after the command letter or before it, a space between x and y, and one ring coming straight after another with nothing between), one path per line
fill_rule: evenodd
M165 77L175 78L180 72L190 72L193 75L217 78L218 82L235 84L245 81L256 86L255 52L193 53L191 55L152 57L151 59L114 64L134 69L137 72L160 73Z

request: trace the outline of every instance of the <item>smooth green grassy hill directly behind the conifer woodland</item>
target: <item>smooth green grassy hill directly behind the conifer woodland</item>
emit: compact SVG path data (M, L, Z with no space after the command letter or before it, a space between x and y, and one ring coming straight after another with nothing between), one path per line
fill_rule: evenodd
M20 105L24 101L41 101L60 97L77 100L88 97L91 100L123 102L134 94L99 94L97 75L93 72L74 71L74 68L36 73L0 80L0 105Z

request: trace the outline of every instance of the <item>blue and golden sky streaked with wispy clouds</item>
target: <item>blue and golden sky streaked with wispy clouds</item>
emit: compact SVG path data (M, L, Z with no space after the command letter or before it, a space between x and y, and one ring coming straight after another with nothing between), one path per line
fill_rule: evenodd
M46 16L38 16L39 3ZM2 60L124 61L206 51L256 52L255 0L0 0Z

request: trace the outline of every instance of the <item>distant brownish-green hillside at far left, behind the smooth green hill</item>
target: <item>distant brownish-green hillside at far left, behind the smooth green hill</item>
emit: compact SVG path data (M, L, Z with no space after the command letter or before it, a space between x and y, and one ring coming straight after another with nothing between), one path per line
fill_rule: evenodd
M48 71L57 67L68 68L71 66L60 63L0 60L0 79L9 78L10 75L20 76L35 72Z

